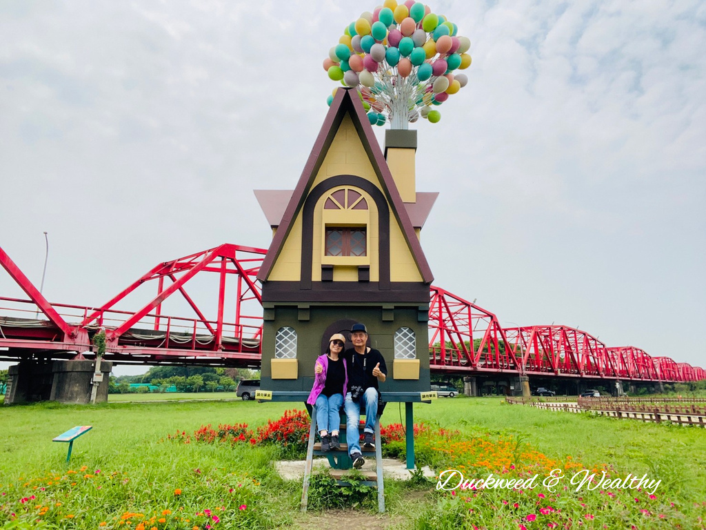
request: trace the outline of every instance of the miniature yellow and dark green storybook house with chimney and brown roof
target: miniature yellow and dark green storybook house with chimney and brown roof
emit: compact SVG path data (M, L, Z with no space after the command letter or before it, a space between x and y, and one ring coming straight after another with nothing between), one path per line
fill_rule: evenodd
M383 156L356 91L339 88L296 189L255 192L274 232L258 274L261 388L280 399L306 399L328 338L355 322L388 365L385 399L429 391L419 232L438 194L415 189L417 132L386 132Z

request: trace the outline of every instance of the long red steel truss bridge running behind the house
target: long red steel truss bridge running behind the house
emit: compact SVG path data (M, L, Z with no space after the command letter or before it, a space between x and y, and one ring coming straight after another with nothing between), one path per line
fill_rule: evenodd
M92 358L92 336L104 329L104 358L116 363L259 367L263 317L256 276L266 252L225 244L165 261L104 305L85 307L49 303L0 248L0 264L28 297L0 296L0 315L6 315L0 316L0 358ZM206 276L217 303L210 298L197 304L187 289ZM143 300L151 293L140 309L117 309L138 291ZM164 314L163 306L175 299L193 316ZM700 367L653 357L634 346L609 347L580 329L503 328L495 314L436 286L430 289L429 359L431 370L456 375L706 379Z

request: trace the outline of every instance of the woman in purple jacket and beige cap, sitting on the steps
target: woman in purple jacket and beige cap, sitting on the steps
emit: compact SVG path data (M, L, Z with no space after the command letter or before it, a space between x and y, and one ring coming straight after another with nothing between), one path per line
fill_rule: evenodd
M313 388L306 400L309 405L316 405L316 425L324 452L341 447L338 441L339 411L348 386L348 372L343 358L345 341L340 333L329 339L326 353L316 359Z

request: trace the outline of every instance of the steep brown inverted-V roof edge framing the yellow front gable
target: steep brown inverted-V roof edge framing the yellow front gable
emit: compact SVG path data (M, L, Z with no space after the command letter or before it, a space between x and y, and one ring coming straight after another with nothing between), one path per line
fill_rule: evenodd
M397 186L395 185L392 174L390 174L390 169L385 161L383 152L381 151L380 146L378 146L375 134L373 133L373 127L365 114L363 104L358 98L357 93L348 88L339 88L336 91L336 95L333 98L328 114L326 114L326 118L321 126L321 131L319 131L318 137L316 138L316 143L314 143L314 146L311 149L309 160L307 160L306 165L304 165L304 170L301 172L301 177L299 177L297 187L294 189L294 193L289 199L289 204L287 204L285 213L282 216L280 226L277 228L275 237L270 244L270 249L268 250L263 264L260 267L258 279L260 281L267 281L270 271L275 264L275 260L282 250L282 245L284 245L287 235L289 234L292 223L297 217L297 213L301 207L304 206L306 196L309 189L311 189L311 183L313 182L313 179L316 178L316 173L321 167L325 155L328 153L328 149L330 148L336 132L338 131L338 127L346 114L350 114L353 124L358 132L358 136L360 137L363 147L368 154L368 158L373 165L373 169L375 170L378 179L380 179L385 197L393 207L395 218L397 218L397 223L399 223L402 228L402 233L405 235L407 245L409 245L409 248L412 250L412 255L414 256L414 260L417 262L417 267L419 267L421 277L424 279L425 283L431 283L431 281L433 281L431 269L429 269L429 264L426 262L424 252L421 250L419 240L414 234L412 221L409 219L409 214L407 213L405 204L402 202L400 192L397 191ZM265 215L268 214L265 213ZM270 216L268 216L268 220L269 219Z

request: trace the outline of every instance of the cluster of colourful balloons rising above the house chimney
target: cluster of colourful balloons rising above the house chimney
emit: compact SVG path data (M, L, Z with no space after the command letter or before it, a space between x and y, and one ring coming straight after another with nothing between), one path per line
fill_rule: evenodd
M471 42L457 33L454 23L421 2L385 0L345 28L323 68L333 81L358 89L373 125L385 123L383 113L393 129L407 129L420 116L436 123L441 113L433 106L468 82L454 72L471 64Z

